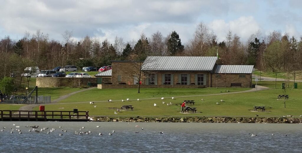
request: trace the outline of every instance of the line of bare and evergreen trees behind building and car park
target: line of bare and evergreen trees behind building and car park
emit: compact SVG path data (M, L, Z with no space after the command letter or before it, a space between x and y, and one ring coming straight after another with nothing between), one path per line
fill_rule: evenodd
M284 71L289 76L297 76L302 70L302 37L297 39L279 31L267 36L256 31L243 41L229 30L226 38L218 42L216 34L206 24L199 23L192 38L185 43L176 31L167 36L159 31L149 37L142 33L140 39L128 42L117 36L114 42L90 36L76 41L72 36L73 32L69 30L62 33L63 43L50 39L41 30L33 34L25 32L19 40L5 36L0 40L0 78L28 66L38 66L40 70L65 65L101 67L110 65L112 60L143 61L147 56L217 56L217 51L218 64L255 65L262 71Z

